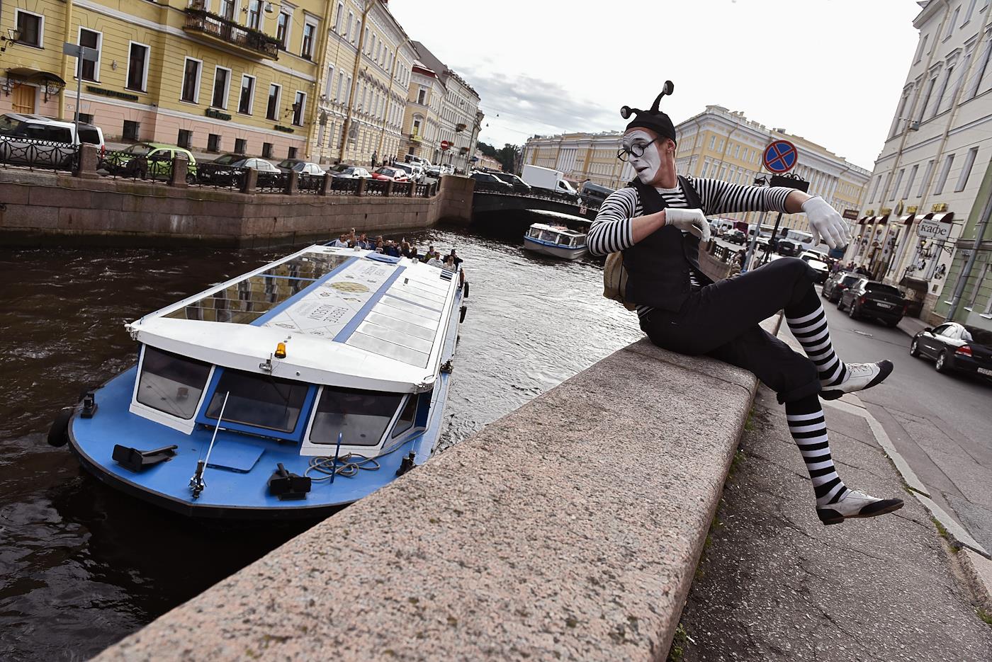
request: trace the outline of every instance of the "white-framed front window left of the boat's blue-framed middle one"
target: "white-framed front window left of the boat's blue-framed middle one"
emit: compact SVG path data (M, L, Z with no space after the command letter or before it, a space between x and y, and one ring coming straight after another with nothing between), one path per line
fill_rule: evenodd
M206 386L210 364L145 345L136 398L180 418L192 418Z

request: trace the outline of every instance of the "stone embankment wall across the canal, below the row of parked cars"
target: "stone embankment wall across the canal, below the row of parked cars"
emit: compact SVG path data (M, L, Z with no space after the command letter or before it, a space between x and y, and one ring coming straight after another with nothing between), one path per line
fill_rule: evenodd
M0 170L5 244L263 247L326 240L355 228L397 232L468 222L472 186L446 176L431 197L240 193L130 179Z

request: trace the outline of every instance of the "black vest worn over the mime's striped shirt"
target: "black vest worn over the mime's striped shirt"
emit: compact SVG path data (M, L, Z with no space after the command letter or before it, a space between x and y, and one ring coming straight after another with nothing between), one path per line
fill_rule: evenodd
M644 215L665 209L665 198L654 187L631 182L641 198ZM679 176L685 202L690 209L701 209L699 194L685 177ZM638 305L678 311L688 296L689 270L694 269L703 283L712 282L699 269L699 239L675 226L666 225L623 252L627 270L625 298Z

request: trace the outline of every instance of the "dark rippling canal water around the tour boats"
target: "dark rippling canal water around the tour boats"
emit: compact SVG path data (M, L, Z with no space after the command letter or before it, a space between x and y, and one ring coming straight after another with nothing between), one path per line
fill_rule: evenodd
M407 236L456 248L471 282L441 452L641 337L600 264L521 250L528 220ZM87 659L312 525L189 521L46 443L135 362L125 321L289 252L0 248L0 659Z

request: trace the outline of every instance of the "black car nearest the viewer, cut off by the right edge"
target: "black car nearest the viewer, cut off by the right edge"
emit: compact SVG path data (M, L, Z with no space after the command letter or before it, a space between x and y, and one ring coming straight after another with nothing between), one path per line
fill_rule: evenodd
M938 373L956 370L992 379L992 331L947 322L913 336L910 355L934 359Z

